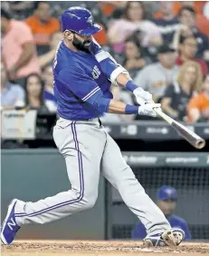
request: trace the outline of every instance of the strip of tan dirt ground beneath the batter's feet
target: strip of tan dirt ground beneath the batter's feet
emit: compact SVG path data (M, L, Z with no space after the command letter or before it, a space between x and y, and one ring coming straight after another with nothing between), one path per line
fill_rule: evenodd
M3 256L209 255L209 243L188 242L175 248L144 248L141 241L15 241L1 249Z

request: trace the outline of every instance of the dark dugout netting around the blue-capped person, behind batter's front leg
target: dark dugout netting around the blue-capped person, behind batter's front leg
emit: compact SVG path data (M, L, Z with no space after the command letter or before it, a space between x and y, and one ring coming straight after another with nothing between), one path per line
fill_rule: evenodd
M175 214L188 223L193 239L209 239L209 170L206 167L140 167L133 168L147 194L156 200L162 185L176 188L178 199ZM109 203L109 238L129 239L138 222L112 188Z

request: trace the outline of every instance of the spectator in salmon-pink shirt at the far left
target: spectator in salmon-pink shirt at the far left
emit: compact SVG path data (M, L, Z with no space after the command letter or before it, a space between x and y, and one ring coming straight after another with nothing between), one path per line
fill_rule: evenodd
M1 32L2 57L8 79L23 85L27 75L40 73L33 34L28 25L11 19L3 9L1 9Z

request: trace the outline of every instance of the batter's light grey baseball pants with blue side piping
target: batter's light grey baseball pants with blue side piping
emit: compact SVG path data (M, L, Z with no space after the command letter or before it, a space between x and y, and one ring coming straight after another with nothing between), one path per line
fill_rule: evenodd
M148 235L171 228L99 119L84 122L60 118L53 128L53 139L65 159L71 190L38 202L18 201L17 224L53 222L90 209L97 201L101 174L119 191L130 211L145 225Z

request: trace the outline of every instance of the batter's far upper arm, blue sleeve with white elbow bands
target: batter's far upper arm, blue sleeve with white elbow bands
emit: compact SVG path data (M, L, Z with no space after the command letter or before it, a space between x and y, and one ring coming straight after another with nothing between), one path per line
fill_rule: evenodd
M102 72L112 84L117 84L116 78L119 74L128 74L128 71L118 64L108 52L104 51L94 38L90 45L90 52L94 54L100 63Z

